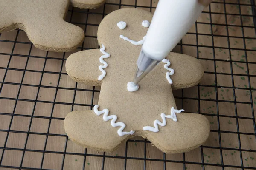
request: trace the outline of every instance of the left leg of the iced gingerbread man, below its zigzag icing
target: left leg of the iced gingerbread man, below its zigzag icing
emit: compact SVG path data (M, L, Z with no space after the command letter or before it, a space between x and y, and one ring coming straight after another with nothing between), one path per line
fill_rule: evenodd
M121 126L112 127L113 119L105 121L103 115L97 116L94 111L70 112L64 121L65 131L73 142L83 147L111 152L131 135L119 136Z

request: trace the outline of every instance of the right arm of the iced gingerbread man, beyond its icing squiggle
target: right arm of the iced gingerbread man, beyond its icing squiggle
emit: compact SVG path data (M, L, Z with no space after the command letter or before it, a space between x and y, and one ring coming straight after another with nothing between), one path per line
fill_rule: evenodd
M169 68L174 69L174 74L170 76L173 82L173 90L197 85L204 75L203 65L195 57L179 53L169 53L166 59L169 59L171 62ZM166 72L167 70L164 66L162 67L163 71Z

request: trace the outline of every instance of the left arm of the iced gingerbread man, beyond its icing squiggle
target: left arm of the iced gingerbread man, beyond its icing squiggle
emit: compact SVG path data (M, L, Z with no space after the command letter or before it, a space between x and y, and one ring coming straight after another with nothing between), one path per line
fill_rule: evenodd
M99 70L99 57L102 53L99 49L79 51L67 58L67 74L76 82L86 85L100 86L102 81L98 80L102 72Z

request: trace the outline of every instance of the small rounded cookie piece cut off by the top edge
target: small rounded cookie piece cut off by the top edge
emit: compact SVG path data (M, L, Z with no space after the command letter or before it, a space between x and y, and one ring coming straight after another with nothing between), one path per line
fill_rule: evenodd
M70 0L74 7L83 9L95 9L101 6L105 0Z

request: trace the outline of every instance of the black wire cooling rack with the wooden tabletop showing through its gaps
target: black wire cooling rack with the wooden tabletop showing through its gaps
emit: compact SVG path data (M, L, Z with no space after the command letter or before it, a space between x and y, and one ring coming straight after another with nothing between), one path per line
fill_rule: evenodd
M107 0L96 10L70 7L66 20L86 35L76 51L99 48L97 27L111 11L154 12L157 2ZM0 34L0 169L256 169L255 23L254 0L214 0L174 49L197 57L205 69L198 86L174 91L177 106L207 116L211 124L206 144L174 155L140 137L113 153L71 142L63 130L65 115L92 109L100 88L68 78L64 65L71 53L38 50L22 30Z

